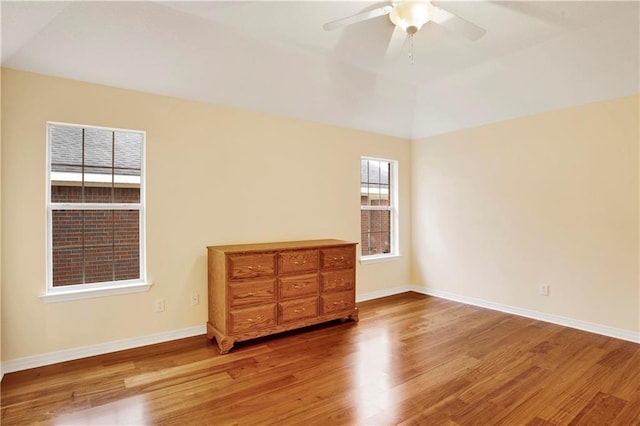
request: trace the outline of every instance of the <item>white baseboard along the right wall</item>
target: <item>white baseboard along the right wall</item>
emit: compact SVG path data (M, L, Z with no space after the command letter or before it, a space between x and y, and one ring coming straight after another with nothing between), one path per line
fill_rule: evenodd
M452 300L467 305L479 306L481 308L492 309L494 311L506 312L508 314L518 315L521 317L532 318L540 321L550 322L565 327L575 328L578 330L588 331L591 333L601 334L603 336L615 337L616 339L627 340L629 342L640 343L640 333L625 330L621 328L609 327L602 324L595 324L587 321L567 318L560 315L548 314L545 312L534 311L531 309L519 308L517 306L503 305L500 303L489 302L487 300L476 299L473 297L462 296L459 294L449 293L442 290L435 290L419 286L411 286L410 290L417 293L427 294L429 296L439 297L441 299Z

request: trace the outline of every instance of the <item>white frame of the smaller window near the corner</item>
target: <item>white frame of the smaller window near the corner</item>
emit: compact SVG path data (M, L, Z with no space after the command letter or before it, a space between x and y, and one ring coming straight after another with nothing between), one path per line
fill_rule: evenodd
M400 257L400 238L399 238L399 234L400 234L399 216L400 215L399 215L399 208L398 208L398 168L399 168L398 161L391 160L388 158L362 156L360 157L358 170L361 170L360 166L362 164L362 160L385 161L391 164L391 173L390 173L391 183L389 185L391 194L389 196L389 206L363 206L362 204L360 205L361 212L363 210L390 211L391 212L391 218L390 218L390 225L391 225L390 234L391 235L390 235L390 241L389 241L390 243L389 253L363 255L362 250L360 250L360 263L375 263L375 262L386 262L390 260L396 260ZM362 188L360 174L358 174L358 187L360 188L360 196L362 196L363 188ZM361 215L360 221L361 221L360 222L360 228L361 228L360 238L362 238L362 215ZM362 241L360 241L360 243L362 244Z

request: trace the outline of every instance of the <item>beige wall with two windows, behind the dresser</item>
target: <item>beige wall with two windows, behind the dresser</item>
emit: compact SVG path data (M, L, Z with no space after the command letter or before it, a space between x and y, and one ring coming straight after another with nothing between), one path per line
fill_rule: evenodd
M2 357L203 325L205 246L358 241L359 157L399 161L401 251L359 265L358 294L410 275L410 143L310 122L4 69ZM44 304L46 122L147 132L148 293ZM166 299L166 311L153 301Z

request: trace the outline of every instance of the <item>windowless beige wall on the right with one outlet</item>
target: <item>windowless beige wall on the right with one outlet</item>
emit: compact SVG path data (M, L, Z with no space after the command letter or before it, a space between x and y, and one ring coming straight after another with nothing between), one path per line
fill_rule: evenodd
M639 101L413 142L414 281L640 331Z

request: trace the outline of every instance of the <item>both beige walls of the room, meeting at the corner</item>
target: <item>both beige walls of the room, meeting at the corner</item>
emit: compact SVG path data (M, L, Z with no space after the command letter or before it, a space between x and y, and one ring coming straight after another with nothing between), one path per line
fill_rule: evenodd
M206 245L358 241L362 155L399 161L403 256L359 265L360 295L414 282L640 331L639 97L409 143L6 69L1 90L5 361L203 325ZM47 121L147 131L150 292L39 299Z

